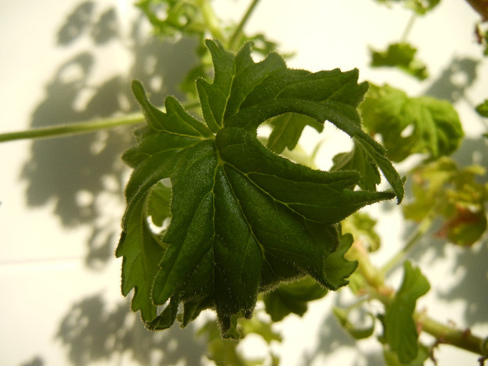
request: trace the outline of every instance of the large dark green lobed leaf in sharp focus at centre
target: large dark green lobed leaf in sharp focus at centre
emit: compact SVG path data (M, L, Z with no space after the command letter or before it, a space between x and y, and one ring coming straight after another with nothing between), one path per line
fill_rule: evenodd
M335 123L379 165L398 200L403 185L384 149L360 128L356 107L367 84L358 84L357 70L291 70L277 54L254 63L250 45L236 55L210 40L207 46L215 76L197 80L204 122L171 97L160 111L142 84L132 84L146 127L123 156L134 171L116 254L124 256L123 292L135 287L132 308L144 310L149 327L174 319L186 325L210 308L222 334L232 336L236 317L251 317L258 293L281 282L310 275L328 289L347 284L357 264L344 259L352 238L340 239L340 222L395 197L355 190L357 171L318 171L276 155L257 139L261 123L289 113ZM167 203L158 213L147 202L166 178L171 222L159 246L147 215L169 218Z

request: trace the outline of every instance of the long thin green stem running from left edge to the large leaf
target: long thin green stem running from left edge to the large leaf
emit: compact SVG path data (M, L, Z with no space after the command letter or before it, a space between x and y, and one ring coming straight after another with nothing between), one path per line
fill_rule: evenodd
M122 125L135 125L142 123L144 116L142 113L132 113L121 117L108 119L96 119L93 121L83 121L79 123L70 123L56 125L52 127L34 128L32 130L6 132L0 134L0 142L15 141L20 139L45 139L49 137L61 137L66 135L79 135L96 130L107 130Z

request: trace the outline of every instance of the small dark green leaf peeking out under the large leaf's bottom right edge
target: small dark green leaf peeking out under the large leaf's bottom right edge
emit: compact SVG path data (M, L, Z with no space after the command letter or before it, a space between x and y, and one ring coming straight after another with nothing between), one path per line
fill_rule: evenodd
M264 306L273 321L281 321L291 313L302 317L307 312L307 303L323 298L327 292L327 289L311 277L303 277L265 293Z

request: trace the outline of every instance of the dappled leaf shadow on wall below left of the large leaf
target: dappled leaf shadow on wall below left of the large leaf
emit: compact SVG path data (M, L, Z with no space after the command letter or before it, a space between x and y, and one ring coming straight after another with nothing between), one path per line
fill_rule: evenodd
M151 333L123 301L107 309L102 296L80 300L71 307L56 339L68 350L74 366L130 357L139 365L202 365L206 351L203 339L195 337L195 328L173 326L165 332Z

